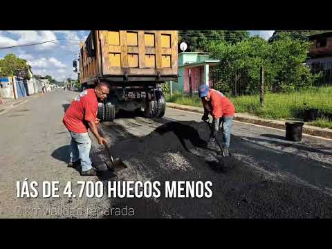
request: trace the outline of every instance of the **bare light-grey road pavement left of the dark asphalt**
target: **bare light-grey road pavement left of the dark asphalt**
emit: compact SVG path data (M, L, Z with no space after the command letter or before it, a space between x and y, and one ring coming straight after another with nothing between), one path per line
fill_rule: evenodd
M18 105L0 116L0 217L93 217L88 208L102 207L102 199L17 198L16 182L68 181L86 178L67 168L70 136L62 124L64 108L78 93L55 91ZM73 184L73 192L79 190ZM39 193L42 190L39 189ZM75 208L75 210L74 210Z

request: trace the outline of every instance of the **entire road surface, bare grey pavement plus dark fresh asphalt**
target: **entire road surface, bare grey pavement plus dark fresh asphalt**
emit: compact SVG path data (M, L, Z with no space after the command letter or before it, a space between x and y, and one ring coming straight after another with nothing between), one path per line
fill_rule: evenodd
M208 132L201 116L174 109L167 109L161 119L122 115L115 122L104 122L102 131L111 141L113 155L122 158L128 168L116 174L104 172L98 177L82 177L75 169L66 167L69 136L61 122L64 107L74 95L77 93L48 93L0 116L1 217L28 216L20 215L20 208L36 206L105 209L127 206L135 210L135 217L151 218L332 216L331 140L305 136L302 142L288 142L284 140L284 131L234 122L234 169L223 173L214 169L217 147L206 147ZM93 142L92 157L98 163L106 158L106 153ZM158 199L17 199L16 181L26 177L60 183L88 179L162 184L211 181L213 196L165 199L162 191ZM76 187L73 192L77 191L78 186L73 185Z

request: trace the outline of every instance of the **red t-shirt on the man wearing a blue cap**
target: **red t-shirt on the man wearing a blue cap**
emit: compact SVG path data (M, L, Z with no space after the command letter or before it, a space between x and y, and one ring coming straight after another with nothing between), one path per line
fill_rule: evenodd
M210 89L210 95L210 103L202 100L205 113L209 112L213 118L234 116L234 105L223 93Z

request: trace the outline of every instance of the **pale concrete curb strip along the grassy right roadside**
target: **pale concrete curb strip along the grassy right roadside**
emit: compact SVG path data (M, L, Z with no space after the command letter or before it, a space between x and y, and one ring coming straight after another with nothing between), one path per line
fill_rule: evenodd
M182 104L174 104L172 102L167 102L167 107L173 109L179 109L183 111L192 111L196 113L204 113L203 107L190 107ZM235 113L234 120L241 122L248 122L250 124L260 124L266 127L273 127L277 129L286 129L285 122L294 122L294 120L269 120L264 118L259 118L253 116L249 113ZM320 136L323 138L332 139L332 130L328 128L320 128L309 125L310 123L304 122L302 132L312 136Z

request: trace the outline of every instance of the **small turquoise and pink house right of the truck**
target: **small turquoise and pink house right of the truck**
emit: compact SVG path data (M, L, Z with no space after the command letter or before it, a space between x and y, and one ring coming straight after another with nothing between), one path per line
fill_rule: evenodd
M171 82L172 91L192 93L199 91L201 84L212 86L210 68L219 63L218 59L211 59L210 53L182 52L178 54L178 82ZM191 84L190 84L191 83Z

